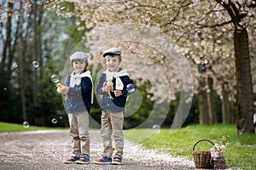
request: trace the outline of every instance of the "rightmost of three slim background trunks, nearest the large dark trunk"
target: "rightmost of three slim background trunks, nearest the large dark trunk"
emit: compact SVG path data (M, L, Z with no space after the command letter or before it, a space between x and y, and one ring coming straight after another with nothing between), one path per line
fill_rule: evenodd
M231 112L230 112L230 101L229 101L229 92L225 90L224 84L222 86L222 122L223 124L230 124L231 123Z

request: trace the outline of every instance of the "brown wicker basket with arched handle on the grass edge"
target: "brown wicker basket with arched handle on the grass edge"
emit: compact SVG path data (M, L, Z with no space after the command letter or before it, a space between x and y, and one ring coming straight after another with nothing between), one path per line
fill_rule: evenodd
M199 141L197 141L195 143L198 144L200 142L203 142L203 141L207 141L207 142L210 142L212 145L213 142L211 140L208 140L208 139L201 139ZM194 157L194 161L195 161L195 167L197 168L205 168L205 169L212 169L212 164L211 164L211 152L210 151L195 151L195 145L193 147L193 157Z

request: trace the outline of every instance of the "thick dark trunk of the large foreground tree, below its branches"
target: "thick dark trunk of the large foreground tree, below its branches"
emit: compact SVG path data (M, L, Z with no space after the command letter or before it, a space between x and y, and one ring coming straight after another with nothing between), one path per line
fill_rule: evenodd
M254 133L253 83L246 28L243 28L242 30L237 30L237 28L235 29L234 45L237 84L237 133Z

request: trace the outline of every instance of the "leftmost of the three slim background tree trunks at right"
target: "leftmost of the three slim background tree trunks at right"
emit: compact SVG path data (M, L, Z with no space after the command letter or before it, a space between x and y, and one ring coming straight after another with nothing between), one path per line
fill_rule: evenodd
M200 82L200 92L199 92L199 123L201 125L208 125L209 124L209 117L208 117L208 106L207 106L207 93L203 89L206 86L206 82L204 78L199 80Z

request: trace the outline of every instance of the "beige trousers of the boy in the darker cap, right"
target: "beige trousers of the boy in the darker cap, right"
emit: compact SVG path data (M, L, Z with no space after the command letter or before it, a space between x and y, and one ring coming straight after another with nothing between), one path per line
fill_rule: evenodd
M102 111L102 139L103 156L112 157L112 134L115 142L115 156L123 156L124 134L123 134L123 112Z

